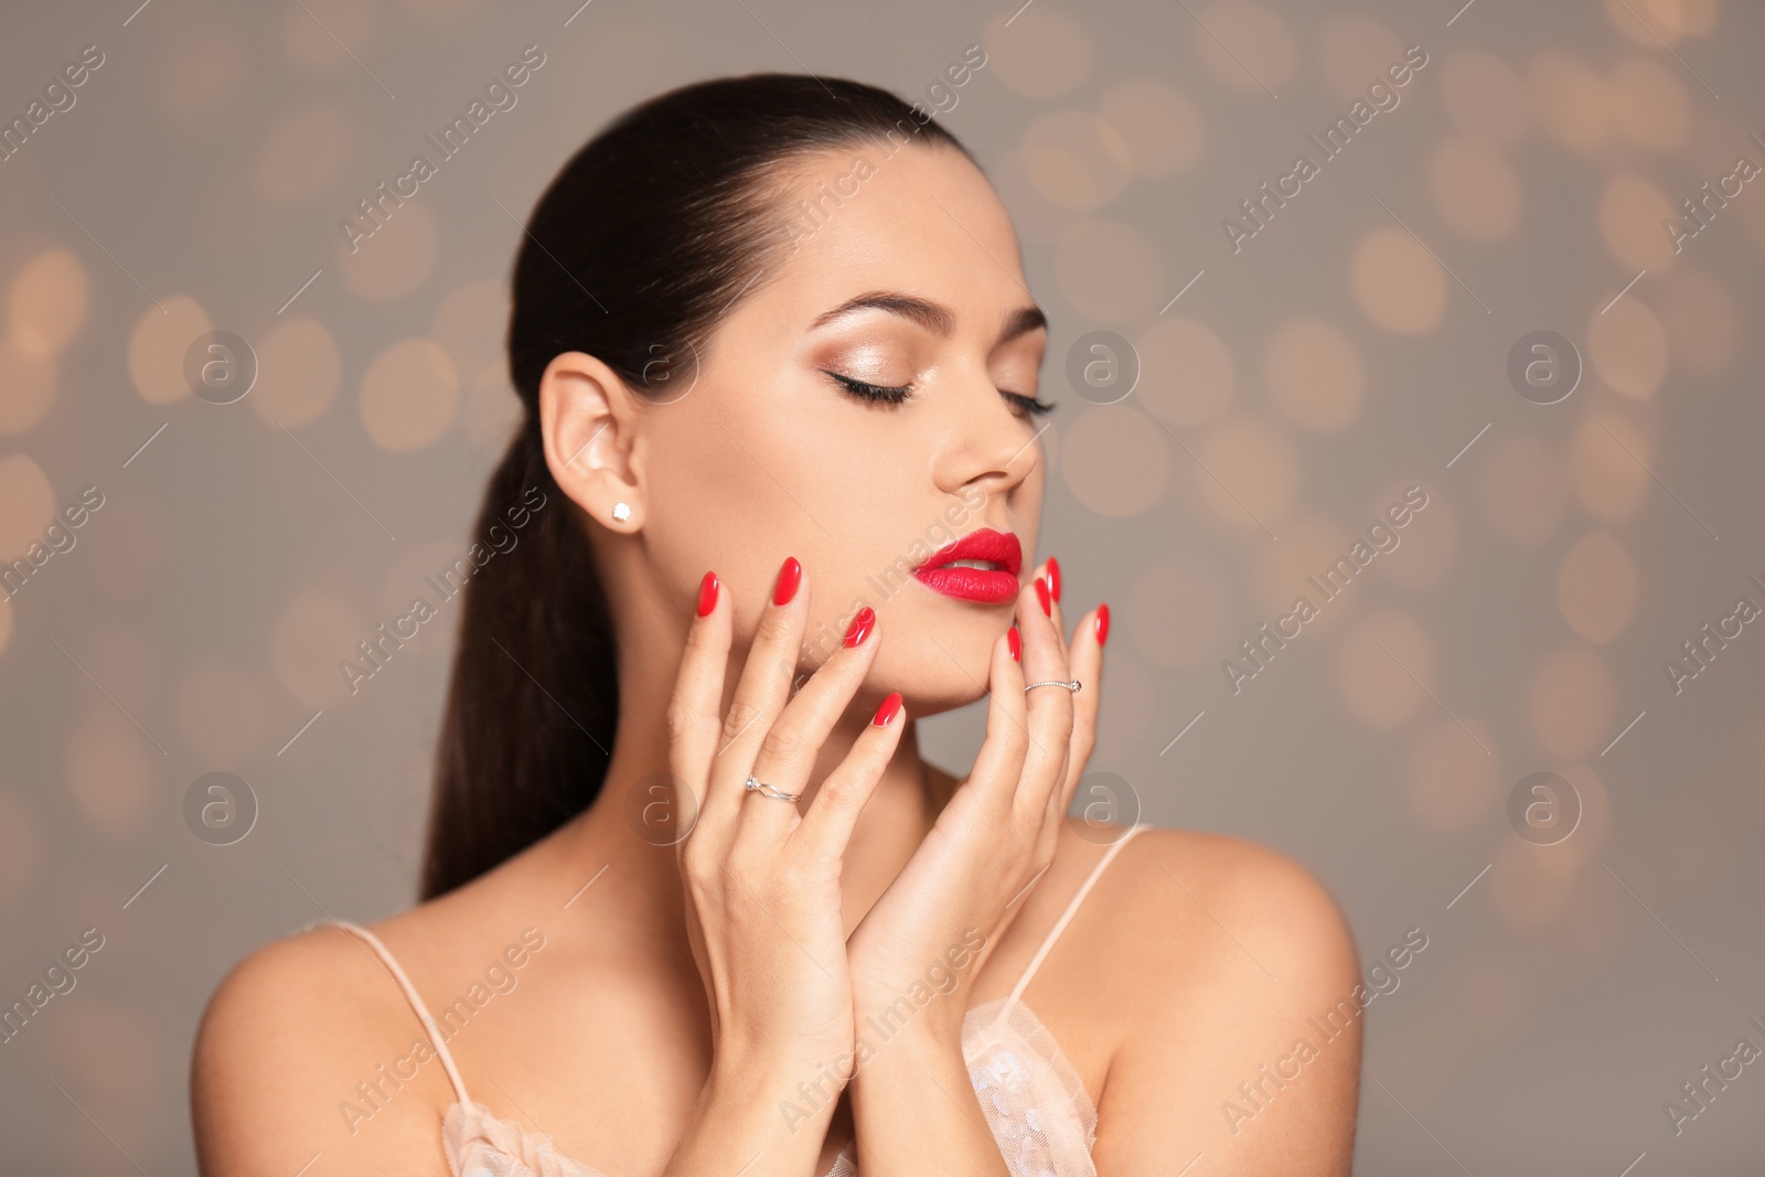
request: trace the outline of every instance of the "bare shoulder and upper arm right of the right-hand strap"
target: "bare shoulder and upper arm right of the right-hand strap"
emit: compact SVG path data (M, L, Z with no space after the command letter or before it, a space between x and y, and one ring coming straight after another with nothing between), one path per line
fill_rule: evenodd
M1100 1172L1168 1166L1188 1149L1179 1163L1205 1151L1225 1173L1347 1173L1364 1006L1329 889L1253 842L1154 828L1121 847L1087 903L1101 911L1084 955L1114 1041Z

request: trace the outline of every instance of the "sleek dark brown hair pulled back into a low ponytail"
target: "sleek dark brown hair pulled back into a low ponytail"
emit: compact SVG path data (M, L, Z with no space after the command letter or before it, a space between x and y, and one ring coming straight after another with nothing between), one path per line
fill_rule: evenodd
M533 508L540 494L544 505L521 540L466 582L424 898L469 882L588 808L618 727L618 641L605 595L586 524L542 450L545 365L584 351L634 392L669 397L694 378L715 319L787 244L771 184L782 166L863 141L888 155L914 141L967 155L928 111L886 90L750 74L627 111L540 198L515 256L508 321L508 367L526 415L491 475L475 535L510 508Z

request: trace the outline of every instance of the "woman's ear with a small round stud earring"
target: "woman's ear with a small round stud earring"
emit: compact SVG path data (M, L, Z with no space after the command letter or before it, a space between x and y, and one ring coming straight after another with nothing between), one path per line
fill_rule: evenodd
M552 356L540 376L540 434L558 487L609 531L642 526L639 404L618 372L584 351ZM612 508L630 506L627 519Z

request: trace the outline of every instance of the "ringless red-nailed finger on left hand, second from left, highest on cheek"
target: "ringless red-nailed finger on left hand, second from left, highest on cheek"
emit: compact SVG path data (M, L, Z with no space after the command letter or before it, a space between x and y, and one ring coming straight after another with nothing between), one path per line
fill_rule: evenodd
M787 558L773 581L748 646L741 679L724 715L720 743L711 761L706 812L727 819L741 805L741 782L752 771L761 741L791 695L803 626L808 618L808 586L803 565Z

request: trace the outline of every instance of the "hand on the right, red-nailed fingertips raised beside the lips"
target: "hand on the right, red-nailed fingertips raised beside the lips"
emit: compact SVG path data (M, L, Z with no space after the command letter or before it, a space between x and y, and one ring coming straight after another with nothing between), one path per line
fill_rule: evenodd
M1057 584L1059 565L1054 577ZM1022 909L1015 900L1054 861L1066 806L1096 739L1103 669L1098 611L1080 618L1068 646L1043 572L1018 591L1017 630L1022 663L1011 656L1010 633L994 642L987 739L973 773L847 937L861 1036L872 1015L895 1009L900 1020L907 1008L898 1001L905 997L920 1027L957 1041L978 958ZM1077 693L1024 690L1025 683L1073 678L1082 683ZM920 1009L916 986L921 995L941 995Z

